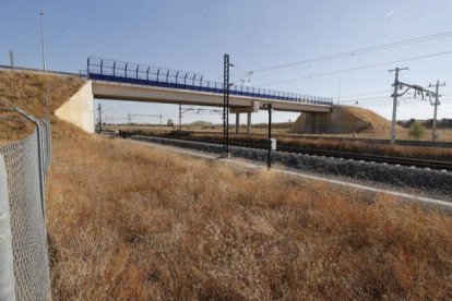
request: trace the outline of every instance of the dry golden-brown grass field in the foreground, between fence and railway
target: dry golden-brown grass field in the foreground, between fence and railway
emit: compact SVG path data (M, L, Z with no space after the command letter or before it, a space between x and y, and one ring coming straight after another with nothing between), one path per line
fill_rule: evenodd
M452 298L447 215L53 129L55 300Z

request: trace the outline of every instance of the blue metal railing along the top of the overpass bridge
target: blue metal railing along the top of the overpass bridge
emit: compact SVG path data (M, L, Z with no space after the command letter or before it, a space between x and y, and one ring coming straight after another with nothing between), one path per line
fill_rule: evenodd
M94 57L87 59L86 67L86 74L92 80L223 94L223 83L205 81L204 75L198 73ZM231 85L229 95L312 105L333 105L332 98L241 85Z

